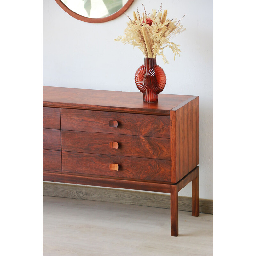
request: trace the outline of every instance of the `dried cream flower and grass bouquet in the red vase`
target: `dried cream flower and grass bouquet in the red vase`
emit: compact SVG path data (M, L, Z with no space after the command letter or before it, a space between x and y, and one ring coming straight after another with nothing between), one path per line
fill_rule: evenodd
M143 5L143 4L142 4ZM143 5L144 7L144 5ZM164 63L169 63L163 53L163 49L169 47L174 54L180 55L180 45L173 43L171 40L174 36L183 32L184 28L177 19L168 19L167 10L162 14L162 5L160 10L152 9L152 13L146 13L145 7L142 14L138 11L133 12L134 20L129 17L128 27L124 30L124 36L119 36L115 41L121 41L124 44L132 44L133 47L138 47L146 58L155 58L156 55L161 55Z

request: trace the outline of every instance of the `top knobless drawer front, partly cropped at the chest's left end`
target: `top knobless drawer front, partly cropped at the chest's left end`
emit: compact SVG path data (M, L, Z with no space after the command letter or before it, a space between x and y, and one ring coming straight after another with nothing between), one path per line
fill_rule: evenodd
M60 129L60 108L43 107L43 128Z

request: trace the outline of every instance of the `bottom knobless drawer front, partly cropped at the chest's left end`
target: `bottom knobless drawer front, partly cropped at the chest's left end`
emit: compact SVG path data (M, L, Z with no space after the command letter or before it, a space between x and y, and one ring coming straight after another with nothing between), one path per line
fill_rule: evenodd
M43 170L61 172L61 151L43 149Z

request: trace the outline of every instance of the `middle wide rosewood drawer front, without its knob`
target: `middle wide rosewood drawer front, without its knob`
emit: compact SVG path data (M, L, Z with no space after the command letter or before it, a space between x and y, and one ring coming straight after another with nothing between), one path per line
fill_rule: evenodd
M110 147L112 142L118 149ZM61 146L63 151L170 160L170 139L165 138L62 130Z

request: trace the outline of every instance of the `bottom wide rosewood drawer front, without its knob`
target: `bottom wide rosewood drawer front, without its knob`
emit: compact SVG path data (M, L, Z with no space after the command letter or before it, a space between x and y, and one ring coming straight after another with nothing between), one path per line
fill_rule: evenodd
M110 164L118 164L118 171ZM170 166L167 160L62 152L62 172L170 182Z

